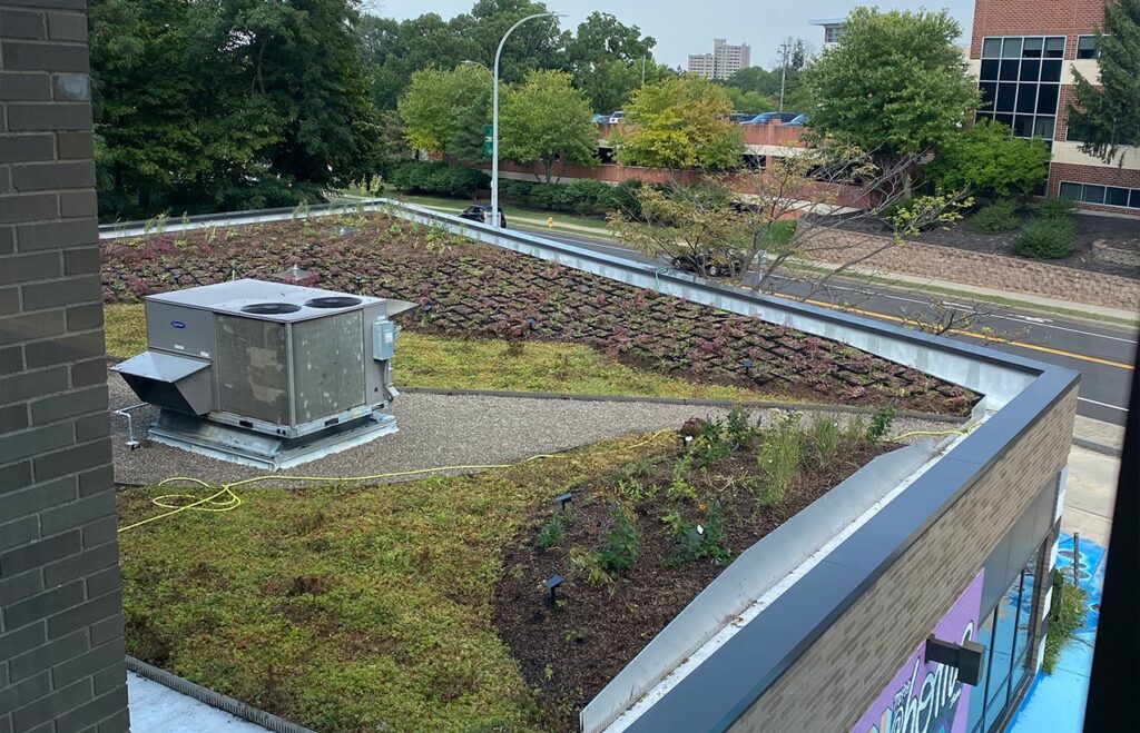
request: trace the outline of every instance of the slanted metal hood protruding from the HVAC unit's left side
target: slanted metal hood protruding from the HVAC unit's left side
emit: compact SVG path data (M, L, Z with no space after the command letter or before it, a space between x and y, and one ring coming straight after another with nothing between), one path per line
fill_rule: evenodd
M210 412L210 362L177 354L142 352L112 366L142 402L178 412Z

